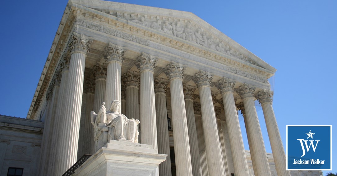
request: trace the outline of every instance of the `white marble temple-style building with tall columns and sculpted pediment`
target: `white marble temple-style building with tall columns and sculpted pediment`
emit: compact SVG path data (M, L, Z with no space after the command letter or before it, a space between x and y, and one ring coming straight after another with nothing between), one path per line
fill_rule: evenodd
M93 155L90 112L119 100L140 120L139 143L167 154L161 176L304 176L286 171L268 82L275 71L193 13L69 0L27 115L44 122L36 174L59 176Z

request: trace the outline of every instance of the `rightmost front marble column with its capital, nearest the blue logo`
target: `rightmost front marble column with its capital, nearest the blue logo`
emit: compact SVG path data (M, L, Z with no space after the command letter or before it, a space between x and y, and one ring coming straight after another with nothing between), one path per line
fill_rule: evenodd
M273 95L270 90L263 89L255 95L258 102L262 106L263 115L265 116L270 145L273 152L276 172L278 176L289 176L290 172L286 170L286 159L281 140L281 135L278 130L273 106Z

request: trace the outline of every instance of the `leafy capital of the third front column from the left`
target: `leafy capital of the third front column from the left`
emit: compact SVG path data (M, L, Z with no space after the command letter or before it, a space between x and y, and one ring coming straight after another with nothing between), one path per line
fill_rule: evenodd
M155 65L158 58L152 56L151 54L146 54L145 52L142 52L140 56L138 56L136 60L136 66L139 69L139 71L143 70L155 70Z

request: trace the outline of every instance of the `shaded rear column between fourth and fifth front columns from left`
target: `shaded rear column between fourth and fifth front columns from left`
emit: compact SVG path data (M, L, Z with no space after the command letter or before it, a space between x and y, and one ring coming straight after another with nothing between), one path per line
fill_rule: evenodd
M200 163L198 137L195 125L195 116L193 108L193 96L195 88L191 85L184 85L184 98L188 127L188 139L191 152L191 163L193 175L202 175L202 167Z

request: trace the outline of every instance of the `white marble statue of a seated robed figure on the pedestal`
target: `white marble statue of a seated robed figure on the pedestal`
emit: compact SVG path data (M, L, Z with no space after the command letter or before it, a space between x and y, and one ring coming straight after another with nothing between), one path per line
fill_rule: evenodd
M114 100L109 109L102 102L98 113L91 111L91 123L94 126L95 151L110 140L130 140L138 143L138 119L128 119L118 112L120 102Z

